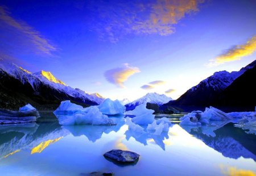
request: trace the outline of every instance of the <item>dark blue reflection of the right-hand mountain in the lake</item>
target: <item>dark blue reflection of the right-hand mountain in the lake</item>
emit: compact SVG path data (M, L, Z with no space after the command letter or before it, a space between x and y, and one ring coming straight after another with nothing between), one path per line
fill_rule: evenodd
M233 123L218 128L214 131L215 137L207 136L202 133L201 127L192 128L190 134L202 140L209 147L222 153L229 158L252 158L256 161L256 136L246 134L240 128L233 126Z

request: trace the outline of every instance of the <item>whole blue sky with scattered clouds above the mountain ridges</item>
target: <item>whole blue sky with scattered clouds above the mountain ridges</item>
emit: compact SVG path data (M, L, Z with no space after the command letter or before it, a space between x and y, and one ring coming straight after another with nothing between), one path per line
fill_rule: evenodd
M113 100L179 98L256 58L256 1L0 1L0 62Z

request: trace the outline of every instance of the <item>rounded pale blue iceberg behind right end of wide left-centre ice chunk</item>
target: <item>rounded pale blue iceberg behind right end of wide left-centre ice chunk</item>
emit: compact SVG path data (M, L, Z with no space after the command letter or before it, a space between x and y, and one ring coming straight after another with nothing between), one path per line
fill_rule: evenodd
M106 98L101 105L98 106L102 114L105 115L118 115L125 113L125 106L118 100L112 101Z

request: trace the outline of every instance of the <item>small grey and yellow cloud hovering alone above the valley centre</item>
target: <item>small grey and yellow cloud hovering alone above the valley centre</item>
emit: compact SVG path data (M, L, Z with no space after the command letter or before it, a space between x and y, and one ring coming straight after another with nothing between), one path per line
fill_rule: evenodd
M113 68L105 72L105 78L109 83L117 85L119 88L125 88L123 83L135 73L141 72L137 67L130 67L127 63L123 67Z

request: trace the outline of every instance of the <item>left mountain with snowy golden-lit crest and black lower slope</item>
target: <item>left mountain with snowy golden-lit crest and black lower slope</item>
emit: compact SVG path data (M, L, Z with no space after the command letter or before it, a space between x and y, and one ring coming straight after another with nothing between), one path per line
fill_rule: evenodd
M97 93L89 94L69 87L51 72L32 74L14 64L0 67L0 108L18 109L30 103L40 109L47 105L59 105L63 100L83 106L99 105L104 99Z

